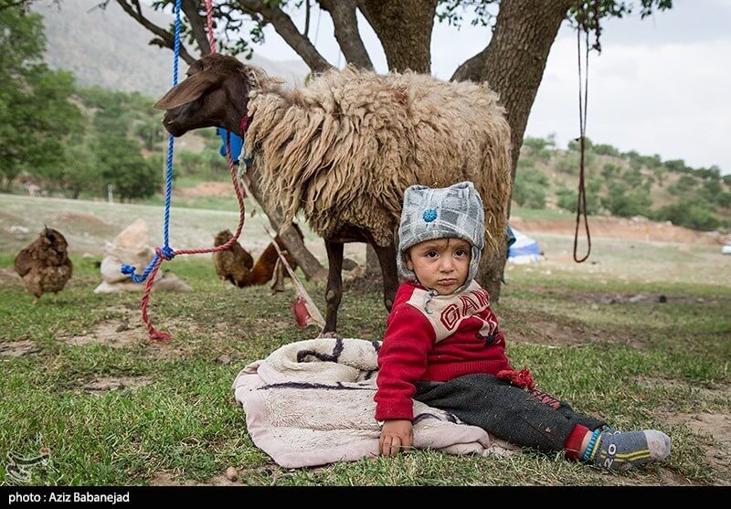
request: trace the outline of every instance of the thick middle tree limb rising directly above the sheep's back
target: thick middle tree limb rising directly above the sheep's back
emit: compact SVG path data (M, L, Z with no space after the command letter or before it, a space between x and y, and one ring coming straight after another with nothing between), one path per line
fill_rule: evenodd
M362 0L359 6L381 41L388 69L431 72L437 0Z

